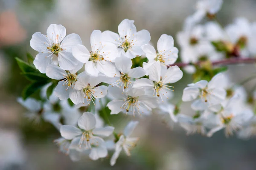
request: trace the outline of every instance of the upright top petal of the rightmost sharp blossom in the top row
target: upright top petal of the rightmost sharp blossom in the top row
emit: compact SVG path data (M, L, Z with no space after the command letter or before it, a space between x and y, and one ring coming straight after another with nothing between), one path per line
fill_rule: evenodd
M157 41L157 51L160 53L162 51L168 51L170 47L173 47L174 41L172 36L163 34Z

